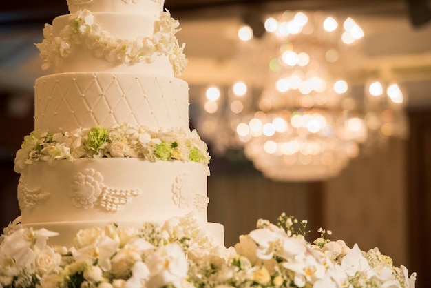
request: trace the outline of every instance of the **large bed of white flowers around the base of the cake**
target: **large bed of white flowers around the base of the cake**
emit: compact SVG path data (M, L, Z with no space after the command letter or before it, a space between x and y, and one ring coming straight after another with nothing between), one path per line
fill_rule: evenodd
M379 249L361 251L330 231L306 241L306 221L282 214L234 247L216 247L192 215L140 229L81 230L74 247L47 244L56 232L23 228L19 218L0 238L0 287L414 287L416 274Z

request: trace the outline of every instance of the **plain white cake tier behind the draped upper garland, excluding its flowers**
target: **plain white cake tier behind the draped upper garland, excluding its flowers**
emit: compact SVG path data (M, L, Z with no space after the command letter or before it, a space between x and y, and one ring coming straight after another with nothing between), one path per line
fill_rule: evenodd
M82 24L85 29L90 30L88 34L83 33L81 43L70 43L67 45L67 51L70 54L59 58L54 65L55 73L63 72L92 72L92 71L112 71L112 72L139 72L149 73L154 75L174 76L174 70L169 57L156 52L156 47L149 47L145 52L150 56L151 61L134 61L133 63L125 63L126 55L120 54L122 45L127 45L129 41L130 46L124 48L129 49L130 54L134 54L133 49L138 50L138 46L142 45L139 41L154 37L154 25L158 19L156 12L141 12L137 13L120 13L120 12L93 12L91 16L94 17L88 24ZM77 17L76 14L61 15L52 21L52 36L65 37L70 28L65 27L70 25L70 19ZM97 25L97 28L92 28ZM84 29L84 28L81 28ZM73 35L73 34L72 34ZM94 37L94 35L100 35ZM158 35L160 37L161 35ZM72 36L76 37L76 36ZM94 38L94 39L93 39ZM91 47L88 47L89 40L94 41ZM96 39L103 39L100 43L101 47L93 49L99 45ZM71 40L70 40L71 41ZM160 39L160 41L165 41ZM124 43L122 43L124 42ZM136 42L136 43L135 43ZM134 44L135 43L135 44ZM118 45L118 48L114 48ZM173 45L173 44L169 44ZM112 51L110 51L112 50ZM154 51L151 51L154 50ZM143 53L143 52L140 52ZM118 56L118 54L120 56ZM107 61L107 57L110 58ZM120 57L120 59L118 59Z

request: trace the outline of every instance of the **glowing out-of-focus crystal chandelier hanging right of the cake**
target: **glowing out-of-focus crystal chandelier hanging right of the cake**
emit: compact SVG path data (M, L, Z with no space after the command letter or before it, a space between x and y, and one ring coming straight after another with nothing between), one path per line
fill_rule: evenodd
M224 94L209 88L202 103L200 131L218 152L241 146L268 178L316 181L339 174L361 147L406 136L399 85L355 79L364 32L353 19L284 12L265 29L261 39L239 32L248 40L240 63L267 71L259 93L238 82Z

